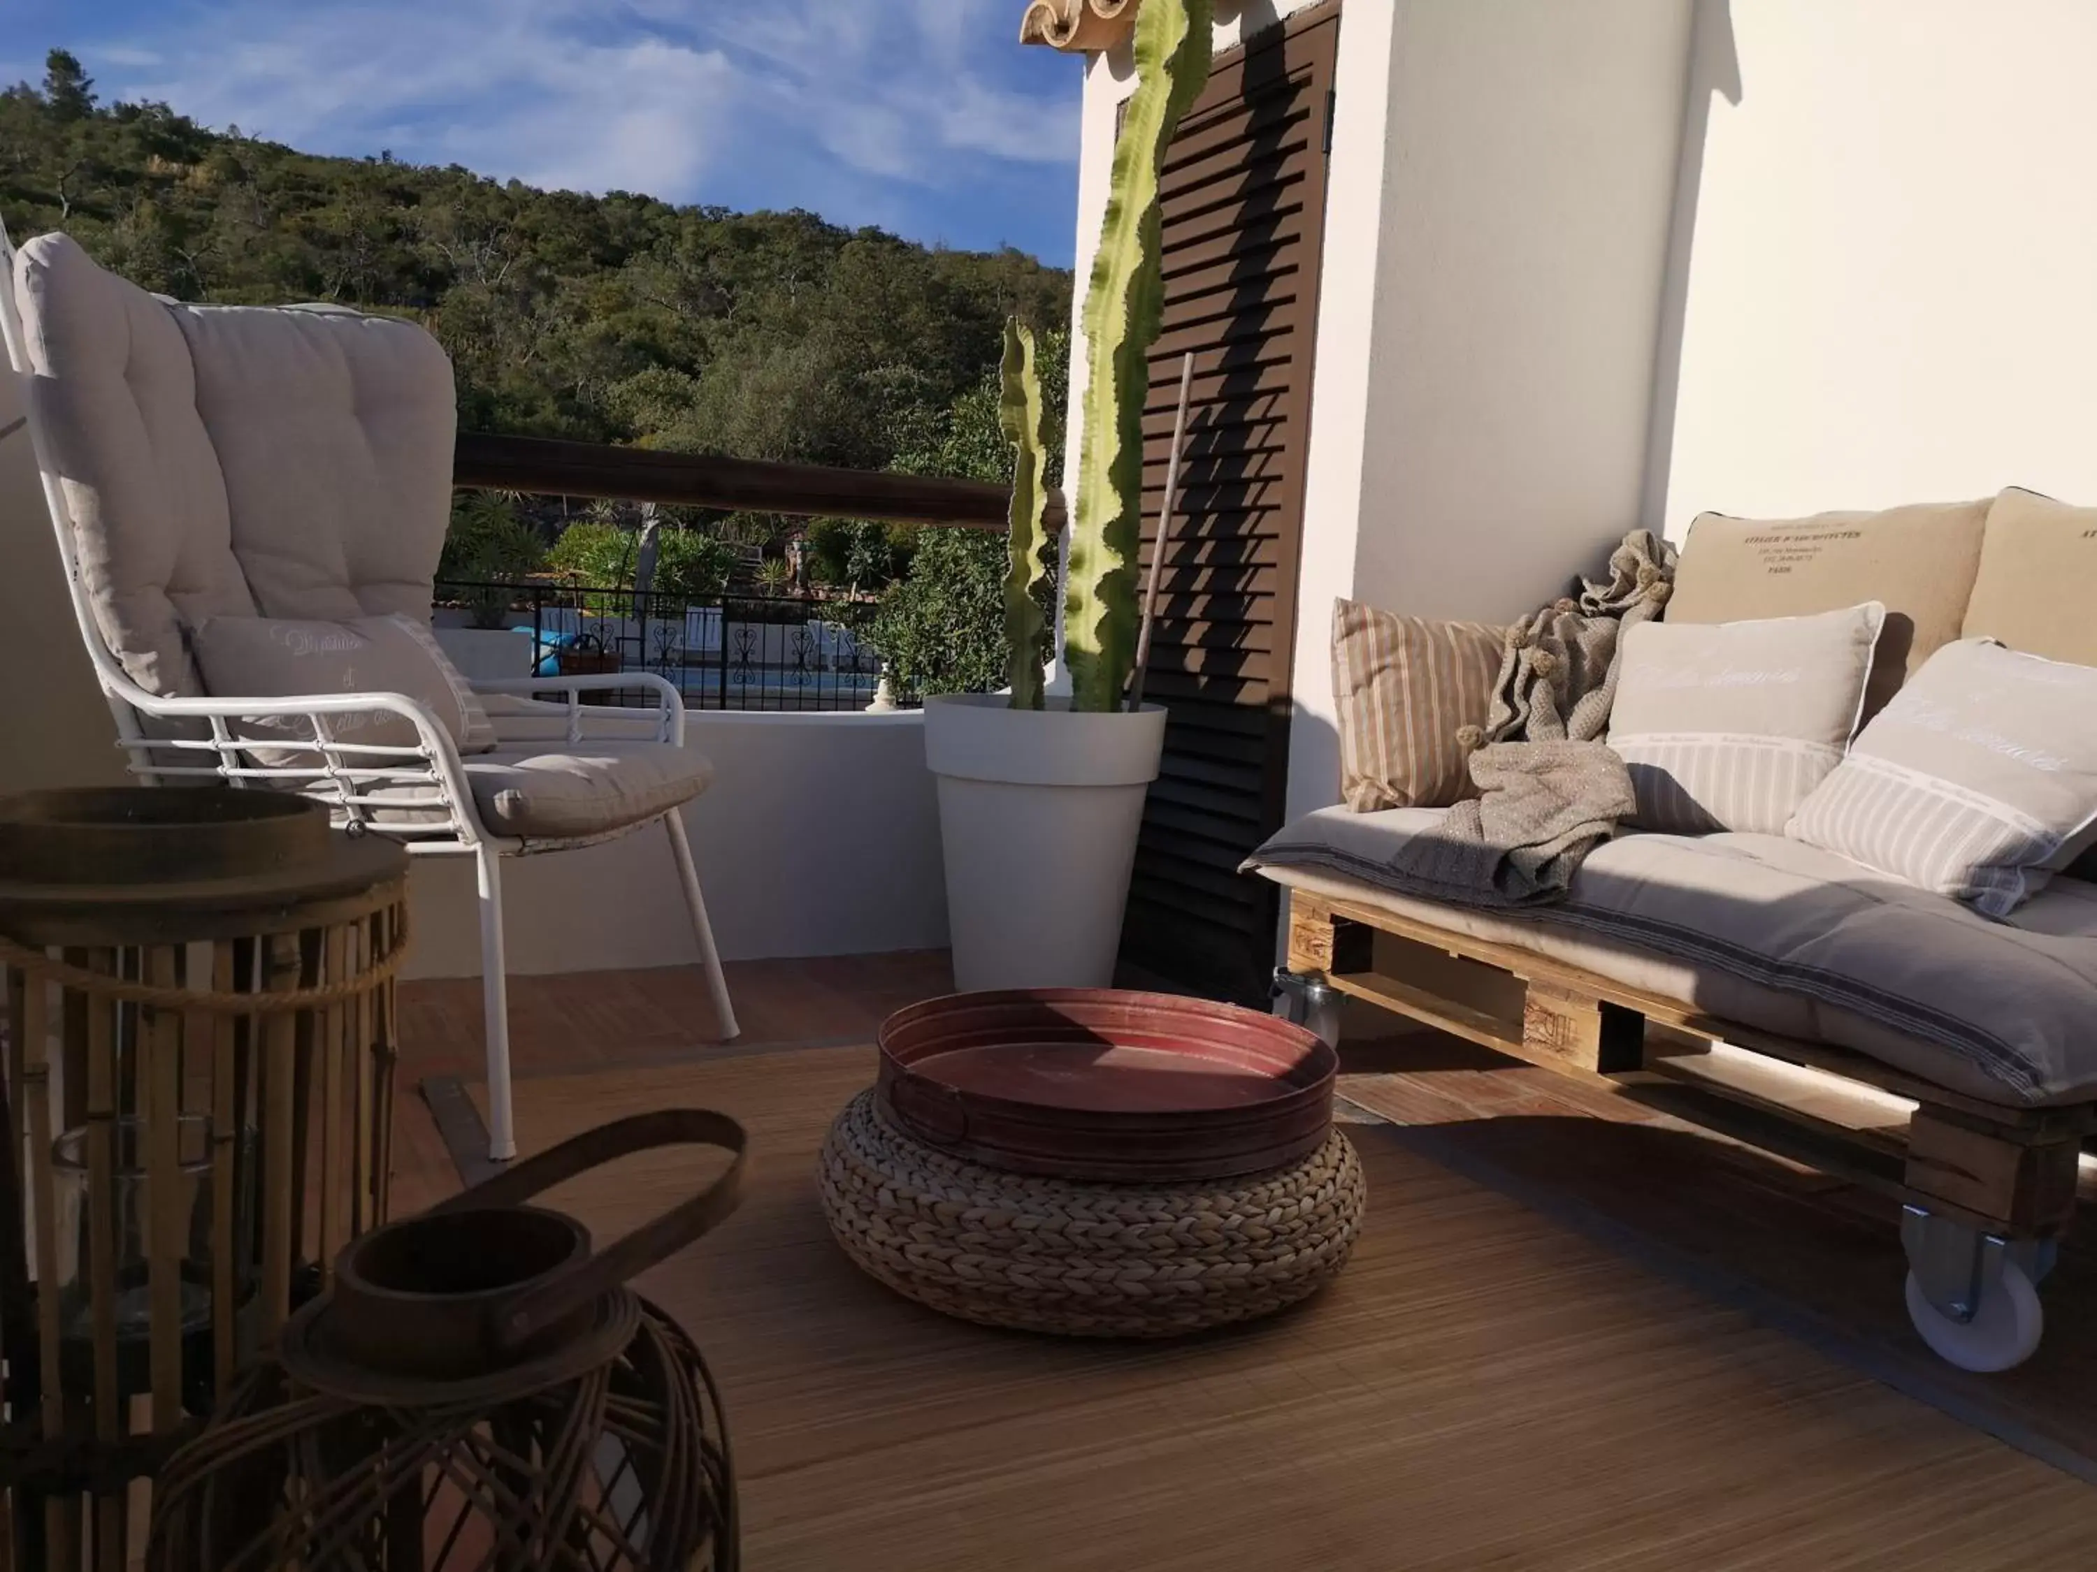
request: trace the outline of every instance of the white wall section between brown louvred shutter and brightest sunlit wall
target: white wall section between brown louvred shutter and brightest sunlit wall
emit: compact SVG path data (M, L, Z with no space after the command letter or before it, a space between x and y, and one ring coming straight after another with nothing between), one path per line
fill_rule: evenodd
M1690 17L1342 13L1290 813L1338 796L1334 595L1506 620L1638 524Z

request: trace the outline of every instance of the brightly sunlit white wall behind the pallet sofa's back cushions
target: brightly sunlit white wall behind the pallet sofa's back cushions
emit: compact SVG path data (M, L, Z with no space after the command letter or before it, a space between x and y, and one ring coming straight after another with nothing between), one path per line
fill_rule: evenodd
M2005 484L2097 503L2097 4L1732 0L1703 21L1650 516L1680 534L1707 507Z

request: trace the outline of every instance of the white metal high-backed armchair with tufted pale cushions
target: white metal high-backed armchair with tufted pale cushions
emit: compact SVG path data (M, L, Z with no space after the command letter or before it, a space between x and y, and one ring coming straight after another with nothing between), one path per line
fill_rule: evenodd
M40 319L40 312L48 310L52 319L63 314L52 306L52 300L63 293L55 283L61 275L71 279L67 287L75 291L75 306L71 323L59 321L55 327L52 321ZM124 363L120 379L111 381L105 375L103 381L115 388L111 396L117 413L124 415L117 423L122 425L136 415L138 432L94 430L94 421L82 415L78 388L67 386L69 377L73 384L92 381L92 377L82 375L78 365L65 363L67 335L71 333L71 340L92 348L103 342L105 316L109 314L107 310L80 310L78 291L101 291L99 306L115 302L113 310L120 321L111 354L132 354L134 361ZM168 329L159 327L155 312L176 319L185 337L174 340ZM126 314L130 314L132 340L138 337L140 327L147 329L147 337L164 340L159 363L140 365L143 350L136 344L124 346ZM476 694L493 696L487 708L497 744L484 755L461 755L459 744L436 713L405 694L206 696L201 683L180 679L180 669L187 667L182 654L170 654L166 646L159 650L140 648L124 625L124 604L128 602L122 602L122 595L111 587L113 560L124 547L126 530L138 528L138 520L124 516L124 509L153 514L178 507L180 499L168 501L164 493L197 482L197 474L206 476L203 482L197 482L206 486L206 493L210 484L216 484L226 499L231 539L222 543L224 562L235 562L243 539L250 551L235 570L239 576L224 587L224 593L231 593L237 604L220 606L220 612L245 608L247 614L262 616L331 616L327 610L312 610L310 585L262 587L250 583L254 574L247 564L258 562L254 555L256 530L273 526L273 507L310 505L315 511L342 511L342 499L319 490L329 484L323 467L306 476L296 461L298 455L264 453L260 461L271 465L264 488L268 495L260 501L250 499L243 518L243 503L233 495L239 490L233 484L237 467L233 455L241 453L245 444L241 461L256 465L258 438L271 434L233 430L237 421L229 419L224 409L214 411L218 421L214 428L203 411L203 375L197 365L185 358L191 352L229 352L226 344L233 346L235 358L239 354L268 354L275 348L273 335L283 340L287 356L310 352L315 344L323 352L333 352L333 344L340 340L348 346L344 352L348 371L342 371L325 354L321 369L340 371L344 377L356 371L359 358L369 361L373 354L398 354L405 348L415 361L417 419L407 421L405 407L415 402L407 396L401 400L401 409L382 411L375 417L380 421L392 419L390 440L411 442L417 457L415 476L407 480L398 474L382 476L388 499L398 493L411 503L403 509L388 509L384 524L403 534L407 526L403 526L401 514L413 514L415 534L403 539L407 539L405 549L415 560L415 568L396 572L392 578L382 576L382 583L359 589L327 585L327 595L319 595L319 602L333 604L344 593L356 593L363 612L419 614L428 623L430 581L434 578L436 551L442 545L442 520L449 518L451 503L449 449L453 442L451 371L434 340L407 323L331 308L191 308L157 302L94 268L63 235L29 241L17 254L4 226L0 226L0 329L6 337L8 365L23 384L23 409L36 444L38 470L44 478L44 501L57 530L73 614L103 696L115 717L117 746L128 755L132 773L153 784L224 780L235 786L260 784L302 790L325 801L333 820L352 834L388 834L415 855L474 859L487 1010L489 1134L495 1159L516 1155L503 964L503 857L568 851L661 826L669 836L671 859L698 939L698 956L707 973L717 1025L723 1038L736 1035L728 981L721 975L719 952L707 922L707 905L679 813L682 803L705 788L711 769L696 755L684 752L684 702L671 683L646 673L472 683ZM168 344L174 348L168 350ZM174 361L180 365L170 371ZM442 371L436 371L438 363L442 363ZM262 363L250 361L245 369L254 371L258 365ZM187 392L180 386L185 371L191 377ZM226 367L218 367L218 371L224 373ZM235 365L231 371L235 373L231 386L237 388L243 367ZM268 375L287 375L287 371L283 365L271 363ZM392 373L388 371L388 375ZM438 381L442 386L436 386ZM363 388L361 396L369 400L369 388ZM126 398L136 402L136 411L126 405ZM352 428L348 449L363 455L367 465L377 465L373 457L377 444L359 446L354 436ZM145 442L155 449L153 457L161 463L161 470L145 465L147 474L140 482L145 490L130 484L140 480L138 476L115 484L117 470L143 463L138 455L124 453L126 442ZM260 444L268 446L266 440ZM166 465L172 461L164 457L161 449L180 449L189 455L185 459L189 470L176 476L180 484L170 484ZM220 455L226 455L224 461ZM308 490L302 493L302 486ZM254 486L250 486L252 490ZM264 507L264 501L273 507ZM344 522L352 534L367 524L354 516ZM369 520L369 528L377 530L380 520ZM432 528L434 539L421 539ZM361 539L350 541L342 545L338 555L348 560L363 545ZM124 549L136 555L138 543L130 541ZM193 597L191 589L174 585L166 574L157 593L159 602L155 604L166 602L168 606L176 604L178 593ZM168 625L176 627L178 618ZM111 627L120 635L115 643ZM585 692L602 690L642 692L652 702L646 706L583 704ZM558 694L560 702L543 702L541 694ZM415 744L377 746L336 736L342 717L373 711L413 723ZM331 717L336 719L331 721ZM298 729L281 729L287 725ZM258 748L266 755L258 755ZM275 763L262 763L262 757ZM287 757L294 763L283 763ZM531 801L528 792L535 780L558 780L566 792L566 801L560 803L558 830L535 828L528 815L503 817L505 803ZM602 803L589 799L598 784L604 788ZM581 811L577 811L579 792ZM602 811L598 811L600 807Z

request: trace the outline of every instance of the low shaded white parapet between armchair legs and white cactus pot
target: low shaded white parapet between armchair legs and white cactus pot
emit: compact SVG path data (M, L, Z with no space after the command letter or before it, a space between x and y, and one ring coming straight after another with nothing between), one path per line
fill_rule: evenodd
M946 945L939 817L925 729L898 715L690 713L715 780L686 824L728 960ZM476 977L470 857L419 857L411 977ZM661 830L503 864L514 973L682 966L696 958Z

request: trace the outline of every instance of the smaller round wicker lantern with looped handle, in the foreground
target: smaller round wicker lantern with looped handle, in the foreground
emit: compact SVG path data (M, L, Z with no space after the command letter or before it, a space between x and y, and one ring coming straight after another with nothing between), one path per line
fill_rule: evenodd
M579 1222L522 1205L667 1144L734 1163L598 1256ZM734 1209L742 1147L726 1115L642 1113L348 1245L168 1463L147 1568L734 1572L713 1379L625 1283Z

